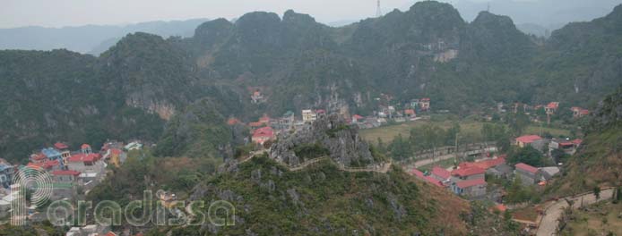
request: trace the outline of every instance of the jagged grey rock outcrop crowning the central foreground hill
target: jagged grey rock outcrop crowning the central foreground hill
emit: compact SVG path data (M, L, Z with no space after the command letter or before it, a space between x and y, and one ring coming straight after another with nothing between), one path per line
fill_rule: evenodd
M320 115L317 121L304 130L283 134L272 146L270 156L282 163L296 166L320 157L323 153L335 162L349 167L376 164L369 146L359 136L358 129L350 127L336 114Z

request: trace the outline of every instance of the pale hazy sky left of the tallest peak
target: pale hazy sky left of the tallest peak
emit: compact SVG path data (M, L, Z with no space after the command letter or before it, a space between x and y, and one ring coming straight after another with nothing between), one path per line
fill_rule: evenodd
M408 7L414 0L381 0L382 9ZM361 19L376 14L376 0L1 0L0 28L123 24L192 18L236 18L244 13L288 9L317 21Z

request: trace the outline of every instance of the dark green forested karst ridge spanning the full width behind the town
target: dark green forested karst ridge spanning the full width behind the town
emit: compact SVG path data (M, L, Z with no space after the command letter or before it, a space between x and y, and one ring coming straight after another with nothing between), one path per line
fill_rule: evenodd
M161 153L193 154L186 147L207 139L187 123L224 129L232 116L248 122L303 108L371 114L380 94L430 97L455 114L514 101L587 107L621 81L620 15L622 6L543 41L508 17L482 12L465 22L452 5L425 1L341 28L293 11L247 13L205 22L193 38L131 34L99 57L0 51L0 156L104 139L173 141ZM254 89L265 103L250 103ZM204 109L220 107L218 119L189 119L206 112L196 111L200 99L212 104Z

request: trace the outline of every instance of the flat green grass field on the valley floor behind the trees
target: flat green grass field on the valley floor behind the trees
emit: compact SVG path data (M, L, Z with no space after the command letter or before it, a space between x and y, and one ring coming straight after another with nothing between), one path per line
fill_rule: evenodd
M389 143L393 139L402 134L403 138L410 137L410 129L414 127L425 126L428 123L435 124L443 129L448 129L454 122L431 122L431 121L416 121L416 122L403 122L400 124L387 125L374 129L361 130L360 133L363 139L368 142L376 143L378 138L382 139L384 143ZM481 140L481 127L484 122L462 121L460 123L461 137L468 137L476 141ZM555 129L549 127L542 127L541 132L549 132L555 137L568 136L570 131L563 129ZM525 129L524 134L540 134L540 126L530 125Z

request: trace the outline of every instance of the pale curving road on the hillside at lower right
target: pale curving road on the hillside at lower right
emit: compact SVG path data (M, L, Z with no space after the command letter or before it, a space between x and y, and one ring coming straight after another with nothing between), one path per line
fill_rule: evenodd
M583 195L583 197L569 198L574 201L573 208L578 208L581 206L582 198L583 205L591 205L598 201L607 200L613 197L613 190L602 190L600 191L600 198L597 200L596 196L593 194ZM559 199L557 202L552 203L546 211L544 212L544 216L540 221L540 225L538 227L538 231L536 232L537 236L551 236L556 235L557 232L557 224L558 220L562 216L562 212L564 212L564 208L568 207L568 203L565 199Z

